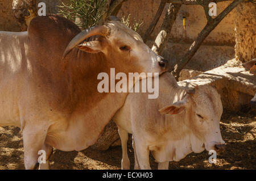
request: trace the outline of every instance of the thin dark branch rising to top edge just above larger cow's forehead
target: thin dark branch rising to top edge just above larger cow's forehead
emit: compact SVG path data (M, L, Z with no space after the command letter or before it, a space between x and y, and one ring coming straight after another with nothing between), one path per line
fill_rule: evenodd
M146 33L142 37L144 43L147 42L148 37L150 37L151 33L154 31L155 26L158 23L158 20L159 20L160 16L162 15L162 12L164 10L164 6L166 5L167 1L168 0L161 0L158 11L156 12L154 19L152 20L152 22L150 23L150 26L148 27Z

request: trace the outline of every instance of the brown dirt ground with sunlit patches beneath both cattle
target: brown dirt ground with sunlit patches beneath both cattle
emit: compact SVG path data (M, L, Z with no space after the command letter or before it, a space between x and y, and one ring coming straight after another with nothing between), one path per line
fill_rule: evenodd
M256 115L255 112L226 112L221 118L222 138L226 150L217 154L217 163L208 162L207 151L191 153L180 162L171 162L169 169L256 169ZM134 166L133 148L129 142L131 168ZM106 151L88 148L83 151L64 152L54 150L50 169L120 169L122 159L121 146ZM150 156L152 169L157 163ZM23 141L20 129L0 127L0 169L24 169Z

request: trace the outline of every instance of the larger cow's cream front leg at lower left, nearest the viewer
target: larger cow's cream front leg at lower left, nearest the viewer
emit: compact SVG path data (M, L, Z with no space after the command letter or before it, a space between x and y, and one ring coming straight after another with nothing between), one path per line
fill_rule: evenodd
M48 127L26 123L23 129L25 169L35 169L38 163L38 151L42 150Z

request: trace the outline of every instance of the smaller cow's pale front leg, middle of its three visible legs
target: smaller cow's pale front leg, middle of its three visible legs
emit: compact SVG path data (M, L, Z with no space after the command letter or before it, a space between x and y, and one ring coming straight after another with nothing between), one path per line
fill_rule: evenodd
M139 140L134 135L135 151L139 162L139 167L142 170L151 170L149 162L149 149L148 146L143 144L143 141Z

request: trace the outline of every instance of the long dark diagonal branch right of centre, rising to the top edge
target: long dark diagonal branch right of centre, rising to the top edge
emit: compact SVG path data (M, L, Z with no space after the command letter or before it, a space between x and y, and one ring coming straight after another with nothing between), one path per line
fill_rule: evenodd
M209 35L210 32L214 30L214 28L221 22L221 20L229 14L230 11L234 9L238 4L245 0L234 0L224 11L222 11L216 18L212 20L211 23L207 22L207 25L204 29L199 33L196 40L192 43L191 47L189 48L188 52L185 53L184 57L181 58L174 66L173 74L176 79L179 79L180 71L184 68L185 65L188 64L189 60L194 56L197 49L199 49L200 45L203 43L205 38Z

